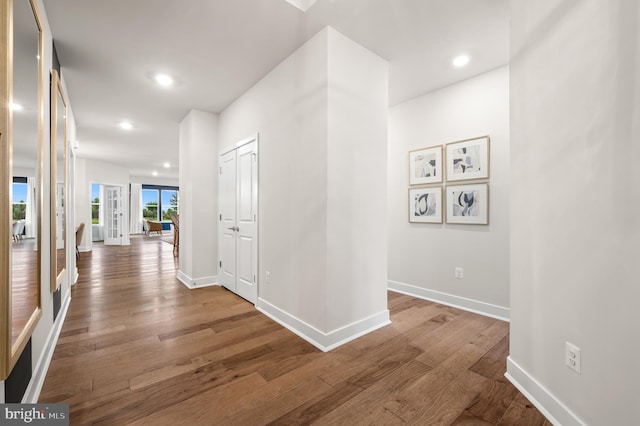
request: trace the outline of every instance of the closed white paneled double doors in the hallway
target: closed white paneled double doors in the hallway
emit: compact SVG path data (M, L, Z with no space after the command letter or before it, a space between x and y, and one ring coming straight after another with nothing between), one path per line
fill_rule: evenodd
M220 156L219 280L255 304L258 299L258 141Z

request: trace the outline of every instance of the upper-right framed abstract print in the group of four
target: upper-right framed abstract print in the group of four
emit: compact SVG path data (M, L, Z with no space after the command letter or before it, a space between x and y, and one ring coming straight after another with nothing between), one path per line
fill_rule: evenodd
M447 181L489 177L489 136L446 145Z

